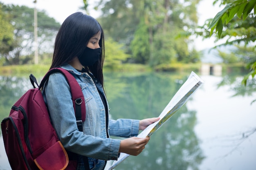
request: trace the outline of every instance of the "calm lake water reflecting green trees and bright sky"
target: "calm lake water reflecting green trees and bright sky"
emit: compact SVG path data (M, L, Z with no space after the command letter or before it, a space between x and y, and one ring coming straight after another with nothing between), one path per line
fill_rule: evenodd
M157 117L189 74L106 73L110 116ZM250 104L256 99L255 83L240 86L241 75L198 75L204 80L200 89L151 136L139 156L128 157L115 170L256 169L256 102ZM0 76L1 120L31 87L28 77ZM11 170L2 137L0 170Z

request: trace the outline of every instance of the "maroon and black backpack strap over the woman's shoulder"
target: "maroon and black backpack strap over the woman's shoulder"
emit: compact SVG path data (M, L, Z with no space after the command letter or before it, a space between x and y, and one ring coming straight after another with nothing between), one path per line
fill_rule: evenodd
M82 104L83 102L85 102L85 99L84 99L81 87L79 86L75 77L64 68L52 68L46 73L45 77L43 77L43 80L41 81L39 88L42 88L44 86L45 82L47 81L47 79L52 73L61 73L67 79L67 83L70 86L73 106L74 106L75 115L76 115L76 125L78 130L83 132L83 121L85 121L86 110L85 110L85 104ZM34 82L33 78L31 80L31 83L32 81ZM34 86L34 83L32 83L32 85ZM72 153L70 155L72 155L73 157L76 154ZM90 170L88 157L83 156L83 162L84 162L85 170Z

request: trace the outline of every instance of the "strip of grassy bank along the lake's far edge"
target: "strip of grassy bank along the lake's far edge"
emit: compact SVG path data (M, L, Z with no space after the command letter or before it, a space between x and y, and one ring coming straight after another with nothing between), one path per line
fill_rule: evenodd
M38 64L38 65L15 65L15 66L1 66L0 75L16 75L16 76L27 76L30 74L33 75L44 75L49 70L50 65ZM162 64L156 66L155 69L150 68L147 65L143 64L121 64L112 68L103 68L104 72L150 72L150 71L159 71L159 72L200 72L201 63L193 64L184 64L184 63L175 63L175 64ZM237 70L243 70L243 64L233 64L225 65L222 64L222 72L229 73Z

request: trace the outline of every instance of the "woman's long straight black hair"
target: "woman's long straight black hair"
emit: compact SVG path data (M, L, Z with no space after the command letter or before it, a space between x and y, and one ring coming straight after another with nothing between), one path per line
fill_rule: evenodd
M92 66L85 68L92 72L94 77L99 79L103 85L103 62L105 57L104 33L101 25L97 20L90 15L85 15L81 12L76 12L68 16L56 35L54 53L52 57L51 68L60 67L79 56L86 48L90 38L101 33L99 46L101 54L98 62Z

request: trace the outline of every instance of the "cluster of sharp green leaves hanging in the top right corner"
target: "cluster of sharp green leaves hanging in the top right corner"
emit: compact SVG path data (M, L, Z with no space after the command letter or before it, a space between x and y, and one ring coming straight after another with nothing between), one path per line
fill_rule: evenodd
M220 0L215 2L217 1ZM216 35L217 40L226 40L224 45L254 42L256 38L255 15L254 13L249 13L247 17L242 15L242 9L245 9L244 6L247 4L247 1L222 0L221 2L222 5L227 4L226 7L213 20L207 20L204 26L201 27L202 31L198 31L197 34L204 36L204 38Z

